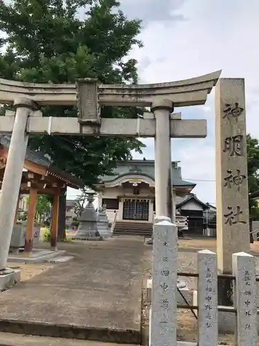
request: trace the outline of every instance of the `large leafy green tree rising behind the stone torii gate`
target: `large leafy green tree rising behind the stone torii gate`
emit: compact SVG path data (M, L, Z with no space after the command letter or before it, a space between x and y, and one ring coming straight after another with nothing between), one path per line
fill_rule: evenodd
M140 21L128 20L115 0L0 0L0 77L23 82L66 83L98 78L137 83L136 61L127 57ZM43 107L44 116L77 116L76 107ZM102 117L137 118L142 109L102 107ZM115 161L143 147L134 138L34 136L32 149L50 155L62 170L83 179L110 174Z

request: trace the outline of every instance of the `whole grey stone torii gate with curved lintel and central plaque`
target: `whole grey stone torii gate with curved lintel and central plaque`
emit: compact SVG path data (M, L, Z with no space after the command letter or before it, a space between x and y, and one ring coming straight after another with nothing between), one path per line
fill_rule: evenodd
M0 132L12 133L0 199L0 272L6 269L23 162L30 134L128 136L155 138L157 215L174 220L171 138L204 138L206 120L182 120L175 107L204 104L221 71L178 82L103 85L82 79L76 84L32 84L0 79L0 103L15 114L0 117ZM78 118L43 117L46 105L75 105ZM100 118L101 106L144 106L144 118ZM11 193L10 193L11 192Z

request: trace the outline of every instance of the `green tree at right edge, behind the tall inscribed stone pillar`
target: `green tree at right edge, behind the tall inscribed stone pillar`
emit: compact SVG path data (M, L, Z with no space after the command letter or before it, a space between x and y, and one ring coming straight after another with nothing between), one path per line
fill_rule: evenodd
M259 143L247 135L247 171L249 192L259 190ZM249 213L253 220L259 220L259 207L254 199L249 200Z

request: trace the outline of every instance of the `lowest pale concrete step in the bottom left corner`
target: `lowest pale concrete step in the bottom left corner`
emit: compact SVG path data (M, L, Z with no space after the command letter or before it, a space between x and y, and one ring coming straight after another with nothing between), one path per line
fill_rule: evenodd
M48 336L26 336L22 334L0 333L0 346L126 346L90 340L50 338ZM133 345L127 345L133 346Z

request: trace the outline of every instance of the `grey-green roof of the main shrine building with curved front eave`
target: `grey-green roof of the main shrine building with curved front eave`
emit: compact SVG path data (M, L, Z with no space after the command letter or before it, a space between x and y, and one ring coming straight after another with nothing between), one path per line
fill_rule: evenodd
M178 166L177 161L172 162L173 169L173 186L192 186L195 183L182 179L181 167ZM113 175L99 177L100 183L108 183L115 181L122 176L146 176L155 181L155 161L154 160L128 160L117 161L116 168Z

